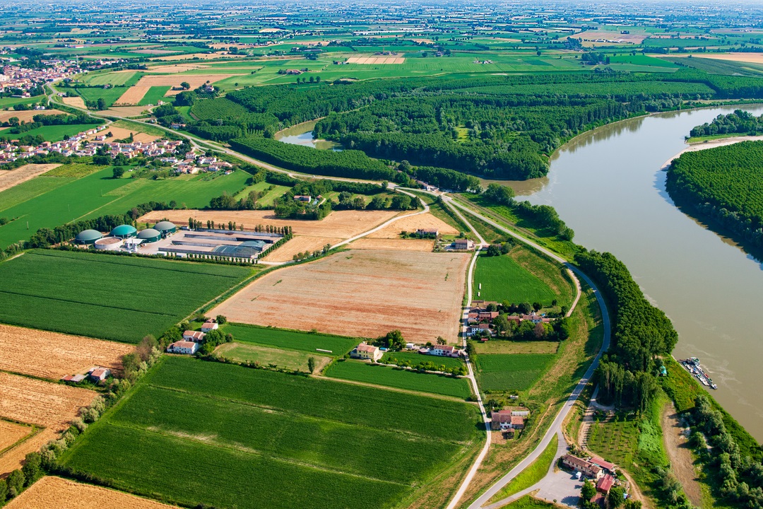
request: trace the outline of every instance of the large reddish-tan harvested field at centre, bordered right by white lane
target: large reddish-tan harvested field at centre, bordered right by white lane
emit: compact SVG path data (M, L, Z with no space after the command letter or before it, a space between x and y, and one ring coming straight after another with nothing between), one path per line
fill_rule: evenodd
M270 272L209 314L345 336L458 339L467 253L353 250Z

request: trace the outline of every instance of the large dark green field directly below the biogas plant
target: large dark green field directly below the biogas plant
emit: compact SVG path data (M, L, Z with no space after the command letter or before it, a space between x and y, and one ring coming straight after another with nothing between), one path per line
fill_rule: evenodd
M137 343L236 285L252 269L32 250L0 263L0 322Z

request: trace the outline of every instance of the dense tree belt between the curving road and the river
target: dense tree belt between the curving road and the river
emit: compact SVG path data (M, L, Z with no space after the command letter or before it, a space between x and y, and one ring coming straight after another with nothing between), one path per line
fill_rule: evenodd
M670 355L678 333L611 253L578 253L575 263L597 283L612 318L612 344L596 371L601 398L643 411L658 388L655 359Z

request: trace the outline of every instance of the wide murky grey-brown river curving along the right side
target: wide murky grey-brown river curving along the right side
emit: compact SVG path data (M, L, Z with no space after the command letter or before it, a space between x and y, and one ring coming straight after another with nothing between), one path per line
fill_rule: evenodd
M601 127L558 150L547 178L511 184L517 195L553 205L576 243L626 263L678 330L674 356L699 357L718 384L713 396L763 441L763 266L678 210L662 171L692 127L734 109Z

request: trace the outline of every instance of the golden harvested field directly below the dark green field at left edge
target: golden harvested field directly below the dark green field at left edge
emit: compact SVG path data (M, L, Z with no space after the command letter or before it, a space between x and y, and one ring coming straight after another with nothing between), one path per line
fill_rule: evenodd
M58 380L91 366L121 371L134 346L89 337L0 325L0 370Z

